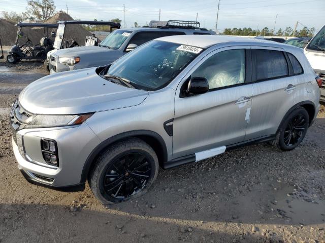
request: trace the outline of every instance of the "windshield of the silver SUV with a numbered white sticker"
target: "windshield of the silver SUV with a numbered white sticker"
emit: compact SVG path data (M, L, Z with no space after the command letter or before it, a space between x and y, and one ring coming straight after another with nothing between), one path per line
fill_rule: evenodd
M114 62L106 74L152 91L167 86L203 49L151 41Z

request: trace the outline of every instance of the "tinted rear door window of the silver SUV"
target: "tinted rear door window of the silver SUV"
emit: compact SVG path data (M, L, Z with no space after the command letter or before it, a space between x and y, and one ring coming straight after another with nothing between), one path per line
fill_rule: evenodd
M257 81L288 75L288 64L283 52L256 49Z

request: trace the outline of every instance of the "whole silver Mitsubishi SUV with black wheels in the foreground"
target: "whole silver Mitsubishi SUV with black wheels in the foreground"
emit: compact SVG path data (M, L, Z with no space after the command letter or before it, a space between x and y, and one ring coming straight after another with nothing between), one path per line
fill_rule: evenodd
M159 166L254 142L294 149L318 110L300 48L169 36L105 67L31 83L12 107L12 144L31 183L80 189L88 179L103 204L118 203L144 194Z

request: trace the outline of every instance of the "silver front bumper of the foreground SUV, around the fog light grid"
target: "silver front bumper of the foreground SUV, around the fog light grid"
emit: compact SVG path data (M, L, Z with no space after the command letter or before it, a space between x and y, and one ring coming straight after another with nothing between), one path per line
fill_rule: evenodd
M87 124L71 128L22 129L24 156L12 139L13 151L18 168L25 178L34 184L51 188L82 188L81 175L89 153L100 143ZM59 166L45 163L41 151L41 139L48 138L57 142Z

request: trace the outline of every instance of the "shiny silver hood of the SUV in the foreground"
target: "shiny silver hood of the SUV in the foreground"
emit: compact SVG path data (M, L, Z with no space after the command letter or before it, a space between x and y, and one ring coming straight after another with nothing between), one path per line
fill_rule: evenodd
M111 83L96 68L42 77L19 95L20 105L34 114L80 114L141 104L148 92Z

